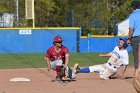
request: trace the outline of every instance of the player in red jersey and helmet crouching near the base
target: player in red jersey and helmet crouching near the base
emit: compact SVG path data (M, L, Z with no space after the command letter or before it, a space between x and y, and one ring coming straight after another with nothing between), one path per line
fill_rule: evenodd
M68 73L70 79L76 78L75 73L68 66L69 64L69 50L67 47L62 45L62 37L55 36L53 40L54 46L50 47L46 53L46 62L48 65L48 71L50 69L56 71L56 81L62 81L62 78L65 77L64 69Z

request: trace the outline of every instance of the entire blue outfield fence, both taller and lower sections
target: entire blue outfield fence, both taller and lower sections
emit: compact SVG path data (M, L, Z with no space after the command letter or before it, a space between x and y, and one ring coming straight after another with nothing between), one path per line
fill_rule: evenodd
M80 28L0 29L0 53L45 53L53 38L61 35L70 52L111 52L118 45L116 37L81 38ZM132 51L131 46L127 48Z

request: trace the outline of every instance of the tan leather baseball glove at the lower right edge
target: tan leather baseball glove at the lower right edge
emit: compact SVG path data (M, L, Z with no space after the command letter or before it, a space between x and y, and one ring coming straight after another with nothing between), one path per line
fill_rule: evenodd
M136 70L134 79L133 79L133 86L137 93L140 93L140 71Z

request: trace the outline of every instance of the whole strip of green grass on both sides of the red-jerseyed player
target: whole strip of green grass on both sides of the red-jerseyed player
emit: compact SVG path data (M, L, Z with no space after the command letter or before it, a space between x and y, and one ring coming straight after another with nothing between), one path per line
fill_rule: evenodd
M69 66L79 63L80 66L90 66L105 63L108 57L99 57L99 53L71 53ZM0 69L12 68L44 68L47 67L43 54L0 54ZM133 65L132 53L129 53L130 65Z

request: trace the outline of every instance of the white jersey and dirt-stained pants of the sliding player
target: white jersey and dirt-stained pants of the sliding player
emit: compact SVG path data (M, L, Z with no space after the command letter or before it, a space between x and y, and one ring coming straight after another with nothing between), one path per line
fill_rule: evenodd
M117 72L120 66L127 66L128 64L129 57L127 50L119 50L118 46L116 46L107 63L90 66L89 70L90 72L99 72L99 76L102 79L109 79L111 75Z

